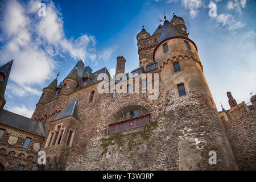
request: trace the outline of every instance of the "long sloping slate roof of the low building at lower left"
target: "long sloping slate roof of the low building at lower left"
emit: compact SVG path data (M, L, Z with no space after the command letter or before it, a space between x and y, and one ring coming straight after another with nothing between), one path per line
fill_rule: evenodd
M41 137L46 137L44 124L42 122L11 113L4 109L0 109L0 123Z

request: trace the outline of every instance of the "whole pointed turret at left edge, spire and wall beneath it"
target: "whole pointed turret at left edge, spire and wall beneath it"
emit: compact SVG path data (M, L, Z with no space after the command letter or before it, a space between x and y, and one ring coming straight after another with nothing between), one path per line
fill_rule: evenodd
M5 105L5 89L11 72L12 65L13 60L9 61L9 63L6 63L2 67L0 67L0 101L2 100L0 108L3 108L3 105Z

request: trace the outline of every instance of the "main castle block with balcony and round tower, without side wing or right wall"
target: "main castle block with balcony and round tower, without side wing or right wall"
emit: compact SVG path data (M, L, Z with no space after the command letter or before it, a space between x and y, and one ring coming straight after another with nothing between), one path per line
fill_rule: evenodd
M106 68L93 73L79 61L59 86L56 78L43 89L32 116L46 126L48 169L51 161L59 169L238 169L184 19L174 15L152 35L143 27L137 40L139 68L131 73L141 77L141 90L149 81L143 73L158 74L158 98L133 94L135 85L131 93L100 94L99 84L109 90L122 81L108 83ZM117 57L116 75L133 81L125 63ZM98 80L100 73L106 76Z

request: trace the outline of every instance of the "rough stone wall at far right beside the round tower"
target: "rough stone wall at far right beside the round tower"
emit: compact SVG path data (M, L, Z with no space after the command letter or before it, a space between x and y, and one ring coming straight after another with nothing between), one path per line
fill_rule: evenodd
M222 112L221 121L241 170L256 169L256 111L245 102L230 109L230 117Z

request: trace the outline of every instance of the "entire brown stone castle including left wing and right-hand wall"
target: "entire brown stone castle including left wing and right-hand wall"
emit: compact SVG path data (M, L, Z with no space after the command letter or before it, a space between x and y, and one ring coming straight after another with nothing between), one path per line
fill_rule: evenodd
M125 73L119 56L112 78L80 60L43 89L31 119L2 109L13 61L3 65L0 169L255 170L256 95L246 105L228 92L231 108L218 113L179 16L137 41L138 69Z

